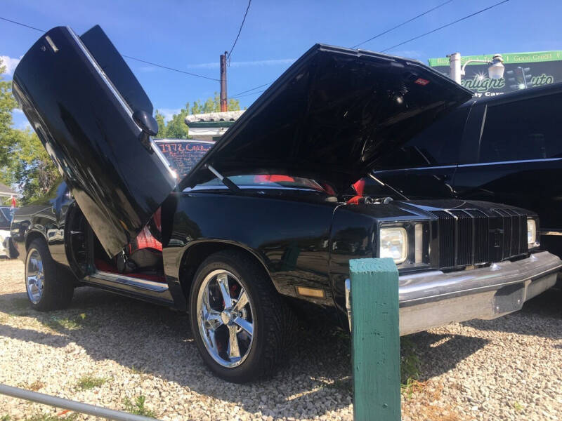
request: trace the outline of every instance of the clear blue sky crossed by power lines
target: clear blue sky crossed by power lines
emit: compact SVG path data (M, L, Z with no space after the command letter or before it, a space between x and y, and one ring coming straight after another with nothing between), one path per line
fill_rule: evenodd
M275 80L316 42L353 46L444 1L253 0L228 67L228 94ZM383 50L498 1L453 0L362 48ZM81 34L99 24L122 54L218 79L219 55L230 50L247 0L4 0L2 6L1 17L41 29L69 25ZM474 55L560 50L561 15L562 1L510 0L388 53L427 62L455 51ZM13 71L39 36L0 20L0 56L8 70ZM155 107L168 116L219 88L217 81L128 62ZM9 73L4 77L11 79ZM240 103L248 106L258 96L243 96ZM14 119L16 126L25 126L22 113L15 113Z

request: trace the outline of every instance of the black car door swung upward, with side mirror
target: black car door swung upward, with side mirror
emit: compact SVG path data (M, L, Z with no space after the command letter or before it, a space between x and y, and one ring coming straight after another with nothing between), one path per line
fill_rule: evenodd
M13 93L111 257L176 185L151 140L152 103L105 33L46 32L23 56Z

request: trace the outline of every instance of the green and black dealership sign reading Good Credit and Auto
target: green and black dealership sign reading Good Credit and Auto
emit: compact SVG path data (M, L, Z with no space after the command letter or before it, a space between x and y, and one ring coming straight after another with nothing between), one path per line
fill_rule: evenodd
M468 60L492 60L492 57L493 54L467 55L461 58L461 65ZM562 81L562 51L507 53L502 54L502 58L504 79L490 79L489 65L475 62L466 66L462 86L473 91L475 96L482 97ZM430 58L429 65L449 76L449 58Z

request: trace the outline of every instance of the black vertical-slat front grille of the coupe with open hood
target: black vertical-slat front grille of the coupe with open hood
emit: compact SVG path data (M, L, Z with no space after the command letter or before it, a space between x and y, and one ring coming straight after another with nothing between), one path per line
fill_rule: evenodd
M499 262L527 253L527 215L512 209L435 210L439 268Z

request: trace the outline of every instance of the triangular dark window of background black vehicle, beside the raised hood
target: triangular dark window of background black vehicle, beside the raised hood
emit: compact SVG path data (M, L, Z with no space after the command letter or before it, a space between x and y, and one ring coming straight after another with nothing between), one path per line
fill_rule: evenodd
M416 168L446 165L459 160L459 145L469 107L439 119L403 147L379 160L378 168Z

